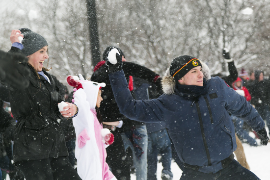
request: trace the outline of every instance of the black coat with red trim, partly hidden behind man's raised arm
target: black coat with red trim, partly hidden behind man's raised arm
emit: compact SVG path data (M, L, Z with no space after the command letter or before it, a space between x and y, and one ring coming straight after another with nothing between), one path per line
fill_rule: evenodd
M125 71L126 79L128 80L129 76L133 76L145 79L149 82L154 82L157 77L159 77L159 75L153 71L132 62L123 62L123 70ZM100 103L100 112L104 122L123 120L124 124L121 131L128 130L133 125L136 126L142 124L141 122L129 121L123 114L120 113L112 93L108 77L108 67L105 64L105 61L101 61L97 64L94 69L94 74L91 77L91 81L106 83L106 86L102 88L103 101Z

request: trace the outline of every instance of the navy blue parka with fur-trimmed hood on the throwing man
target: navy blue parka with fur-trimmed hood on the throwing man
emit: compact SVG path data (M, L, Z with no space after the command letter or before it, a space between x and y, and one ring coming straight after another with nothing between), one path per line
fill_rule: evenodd
M203 64L206 93L192 100L191 94L175 91L175 81L166 71L164 94L158 99L136 101L127 90L123 71L109 74L120 112L132 120L166 124L180 159L201 166L204 172L222 169L221 160L236 150L234 124L229 113L241 117L254 130L265 123L250 103L219 77L210 77Z

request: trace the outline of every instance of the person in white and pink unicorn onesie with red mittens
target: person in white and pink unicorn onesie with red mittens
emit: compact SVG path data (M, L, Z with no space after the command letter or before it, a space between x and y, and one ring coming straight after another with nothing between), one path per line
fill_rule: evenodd
M82 180L117 180L106 163L106 147L113 143L113 134L103 129L99 106L103 100L101 88L105 83L67 77L74 88L74 103L80 112L73 118L76 132L75 157L77 171Z

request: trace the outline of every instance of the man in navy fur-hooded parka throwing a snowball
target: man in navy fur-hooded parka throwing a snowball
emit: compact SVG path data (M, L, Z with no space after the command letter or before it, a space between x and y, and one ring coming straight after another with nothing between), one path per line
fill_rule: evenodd
M163 121L185 167L180 180L259 180L234 160L234 125L241 117L267 145L265 123L255 108L209 68L189 55L173 59L162 79L164 94L136 101L128 90L118 53L108 59L109 78L120 112L147 123Z

